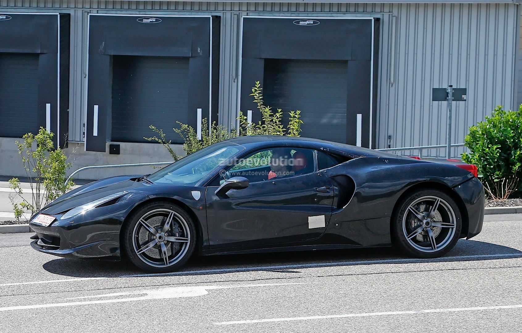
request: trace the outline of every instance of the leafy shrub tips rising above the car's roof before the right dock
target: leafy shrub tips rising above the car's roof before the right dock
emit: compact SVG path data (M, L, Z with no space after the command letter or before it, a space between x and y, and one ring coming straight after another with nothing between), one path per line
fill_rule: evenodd
M241 135L285 135L285 133L290 137L299 137L301 135L303 121L299 119L301 117L300 110L289 112L288 126L285 129L281 122L283 118L282 110L277 109L274 113L270 106L265 106L263 88L260 88L259 81L256 81L250 96L254 96L254 103L257 103L257 108L261 113L261 120L258 124L248 122L247 117L240 112L238 119L240 121Z

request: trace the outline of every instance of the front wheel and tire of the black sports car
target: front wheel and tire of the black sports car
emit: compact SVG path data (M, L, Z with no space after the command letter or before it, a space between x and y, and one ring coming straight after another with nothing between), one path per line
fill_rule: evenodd
M165 226L169 220L170 225ZM122 244L136 267L149 273L169 273L192 256L196 237L194 221L184 209L169 202L154 202L129 216L123 227Z

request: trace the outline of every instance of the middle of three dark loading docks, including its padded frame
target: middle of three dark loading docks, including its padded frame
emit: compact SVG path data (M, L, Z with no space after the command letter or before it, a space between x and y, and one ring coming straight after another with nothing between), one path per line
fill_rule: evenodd
M150 125L181 143L198 109L216 121L218 57L218 17L90 14L86 150L148 142Z

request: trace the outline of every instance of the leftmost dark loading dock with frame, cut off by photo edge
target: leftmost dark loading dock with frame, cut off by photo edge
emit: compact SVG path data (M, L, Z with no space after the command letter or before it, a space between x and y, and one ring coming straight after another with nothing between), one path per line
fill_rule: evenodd
M0 13L0 137L69 131L69 14Z

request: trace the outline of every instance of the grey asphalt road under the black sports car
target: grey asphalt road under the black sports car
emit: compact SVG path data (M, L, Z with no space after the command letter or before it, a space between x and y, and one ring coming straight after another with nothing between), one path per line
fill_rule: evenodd
M436 260L360 249L194 258L150 276L0 235L0 331L519 332L522 214Z

